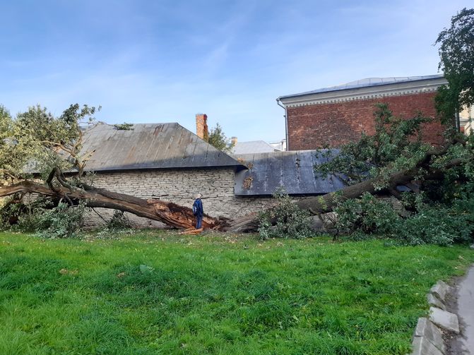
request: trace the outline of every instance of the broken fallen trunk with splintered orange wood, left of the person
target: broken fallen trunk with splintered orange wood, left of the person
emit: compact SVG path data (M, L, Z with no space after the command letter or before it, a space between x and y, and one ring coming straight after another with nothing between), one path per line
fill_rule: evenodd
M162 200L143 200L124 193L115 193L103 188L93 188L83 185L83 188L66 188L55 186L49 188L32 181L21 181L11 186L0 187L0 197L15 193L37 193L44 196L64 197L70 200L81 200L88 207L103 207L130 212L138 217L146 217L160 221L170 227L190 229L194 228L196 219L191 208ZM218 219L204 215L204 229L222 229L227 226L225 219Z

